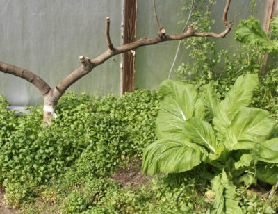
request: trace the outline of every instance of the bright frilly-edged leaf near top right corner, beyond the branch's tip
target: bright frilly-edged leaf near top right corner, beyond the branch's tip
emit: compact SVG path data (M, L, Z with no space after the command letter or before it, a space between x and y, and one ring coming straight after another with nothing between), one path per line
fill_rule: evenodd
M270 40L268 34L263 31L259 20L250 16L247 20L241 20L235 30L236 40L243 44L250 44L266 52L277 51L277 41Z

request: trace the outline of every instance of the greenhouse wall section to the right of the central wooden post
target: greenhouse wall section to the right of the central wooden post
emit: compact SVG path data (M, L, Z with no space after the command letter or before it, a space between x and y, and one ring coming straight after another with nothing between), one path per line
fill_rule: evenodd
M158 19L160 24L165 27L167 34L181 33L184 26L183 24L178 24L178 22L188 18L188 12L184 13L181 8L185 6L185 3L190 4L190 2L190 0L156 1ZM236 49L238 42L234 39L234 28L238 26L239 20L254 15L261 23L265 22L264 19L269 2L268 0L256 0L256 7L253 13L251 13L252 0L231 0L228 19L234 19L233 28L226 38L216 41L217 49L228 49L231 47L231 52ZM214 32L220 33L225 28L222 22L225 4L226 1L217 0L211 8L211 18L215 19L215 24L212 26ZM275 10L277 11L277 9ZM190 24L190 21L188 24ZM158 29L154 19L152 1L138 1L137 37L147 36L152 38L157 33ZM152 47L142 47L136 51L135 88L156 90L158 85L168 78L178 44L179 42L176 41L163 42ZM187 63L188 55L189 51L182 46L174 68L177 68L181 63ZM170 77L171 79L175 78L174 72L172 72Z

